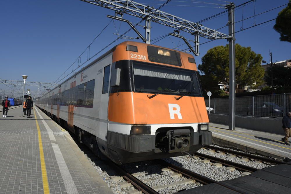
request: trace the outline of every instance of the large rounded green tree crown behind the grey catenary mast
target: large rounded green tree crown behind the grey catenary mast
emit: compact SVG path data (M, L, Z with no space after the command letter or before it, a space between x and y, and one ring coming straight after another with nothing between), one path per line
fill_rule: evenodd
M228 45L213 47L202 57L198 70L214 82L229 84L229 49ZM264 82L265 71L261 66L262 56L251 47L235 45L235 79L239 86L260 86ZM255 88L255 86L253 86Z

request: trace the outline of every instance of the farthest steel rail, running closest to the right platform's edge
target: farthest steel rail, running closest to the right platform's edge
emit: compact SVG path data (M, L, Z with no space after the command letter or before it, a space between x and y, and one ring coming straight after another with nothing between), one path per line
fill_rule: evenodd
M229 149L225 149L225 148L221 148L221 147L214 147L211 145L206 145L204 147L208 148L208 149L213 149L213 150L216 150L219 152L226 152L226 153L234 154L237 156L242 156L245 158L249 158L249 159L253 159L253 160L257 160L257 161L261 161L261 162L267 162L267 163L272 163L272 164L288 164L288 165L290 165L289 163L286 163L286 162L282 162L282 161L278 161L278 160L274 160L274 159L270 159L270 158L264 158L262 156L254 156L252 154L242 153L242 152L238 152L235 150L229 150Z

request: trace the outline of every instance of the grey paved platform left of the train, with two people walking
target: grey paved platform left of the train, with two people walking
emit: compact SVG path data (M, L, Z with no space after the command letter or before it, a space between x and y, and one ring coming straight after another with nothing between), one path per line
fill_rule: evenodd
M0 117L0 193L112 193L70 134L37 107Z

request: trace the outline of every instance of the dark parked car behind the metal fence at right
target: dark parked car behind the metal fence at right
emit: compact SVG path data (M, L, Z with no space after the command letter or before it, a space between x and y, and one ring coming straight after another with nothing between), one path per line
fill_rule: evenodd
M249 108L252 112L253 106ZM283 117L284 107L274 102L255 102L254 116L259 117ZM249 114L250 115L250 114Z

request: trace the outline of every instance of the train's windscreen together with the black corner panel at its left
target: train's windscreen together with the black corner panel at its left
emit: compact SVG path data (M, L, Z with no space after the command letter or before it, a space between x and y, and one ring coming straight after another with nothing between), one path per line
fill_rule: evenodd
M198 72L133 60L115 63L120 68L120 85L114 92L145 92L202 97Z

